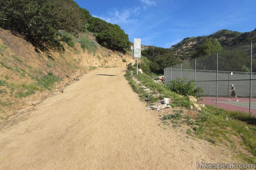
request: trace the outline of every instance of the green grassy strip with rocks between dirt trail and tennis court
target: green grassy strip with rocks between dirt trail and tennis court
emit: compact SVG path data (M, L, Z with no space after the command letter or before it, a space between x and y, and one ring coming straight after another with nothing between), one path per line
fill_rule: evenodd
M159 112L162 123L166 126L177 128L187 127L186 133L194 138L207 140L214 145L226 146L233 156L245 163L256 163L256 118L243 111L227 111L217 107L206 105L201 112L193 110L177 110L179 107L190 108L192 104L186 96L178 95L171 91L168 86L158 84L145 74L132 75L132 67L126 73L130 85L139 94L141 99L148 104L160 102L164 97L171 99L172 113L166 115ZM132 78L134 76L141 84L137 84ZM175 80L176 81L176 80ZM159 98L152 98L143 88L146 86L155 94L159 93ZM189 88L188 88L189 90ZM186 89L183 89L186 95ZM162 96L162 97L161 97ZM152 102L154 101L154 102ZM188 112L187 115L184 112ZM195 114L191 114L195 113ZM182 130L181 130L182 131Z

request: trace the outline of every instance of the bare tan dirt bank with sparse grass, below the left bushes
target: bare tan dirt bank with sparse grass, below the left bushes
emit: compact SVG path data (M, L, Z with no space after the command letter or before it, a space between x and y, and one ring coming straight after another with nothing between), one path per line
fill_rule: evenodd
M93 33L81 33L73 41L73 47L60 41L61 51L41 51L22 36L0 29L0 120L34 105L50 92L61 91L90 70L125 67L130 61L130 55L97 43L92 46Z

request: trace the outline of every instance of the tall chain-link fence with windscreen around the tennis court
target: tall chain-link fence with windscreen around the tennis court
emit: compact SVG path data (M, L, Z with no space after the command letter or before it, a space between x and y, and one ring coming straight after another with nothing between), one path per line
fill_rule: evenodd
M206 104L256 114L256 40L164 69L165 82L176 78L194 79Z

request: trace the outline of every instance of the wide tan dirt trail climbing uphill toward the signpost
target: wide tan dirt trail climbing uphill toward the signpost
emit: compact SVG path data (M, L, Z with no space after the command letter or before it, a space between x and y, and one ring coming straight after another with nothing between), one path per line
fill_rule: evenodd
M159 126L124 74L125 68L90 72L2 128L0 169L184 170L197 161L232 161L219 147Z

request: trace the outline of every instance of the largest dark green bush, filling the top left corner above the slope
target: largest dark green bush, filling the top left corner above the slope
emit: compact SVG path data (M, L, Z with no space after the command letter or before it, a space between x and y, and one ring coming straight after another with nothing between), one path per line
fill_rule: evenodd
M90 17L73 0L0 1L0 27L20 33L34 45L55 42L56 30L83 31Z

